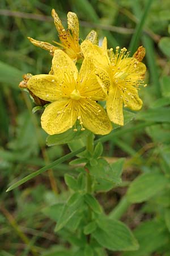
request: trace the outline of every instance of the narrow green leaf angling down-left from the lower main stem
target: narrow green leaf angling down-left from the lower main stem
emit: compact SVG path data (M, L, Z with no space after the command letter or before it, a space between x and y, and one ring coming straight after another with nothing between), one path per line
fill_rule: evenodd
M67 222L74 216L74 214L81 209L82 205L83 196L79 193L74 193L65 204L65 207L59 216L55 231L58 232L60 229L62 229L63 226L65 226Z

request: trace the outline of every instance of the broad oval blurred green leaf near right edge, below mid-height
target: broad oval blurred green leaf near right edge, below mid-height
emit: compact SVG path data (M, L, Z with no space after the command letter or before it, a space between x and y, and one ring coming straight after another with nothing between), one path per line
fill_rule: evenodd
M131 203L141 203L162 191L168 183L163 174L142 174L130 184L127 199Z

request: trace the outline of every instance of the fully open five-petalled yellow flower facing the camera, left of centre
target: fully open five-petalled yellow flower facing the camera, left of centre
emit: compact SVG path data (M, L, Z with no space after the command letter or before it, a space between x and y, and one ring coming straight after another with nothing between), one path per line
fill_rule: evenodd
M97 82L90 58L82 63L80 72L65 52L56 50L52 60L53 75L36 75L28 81L28 89L42 100L52 102L41 116L41 126L48 134L59 134L74 126L82 126L95 134L108 134L111 121L96 102L105 100Z

